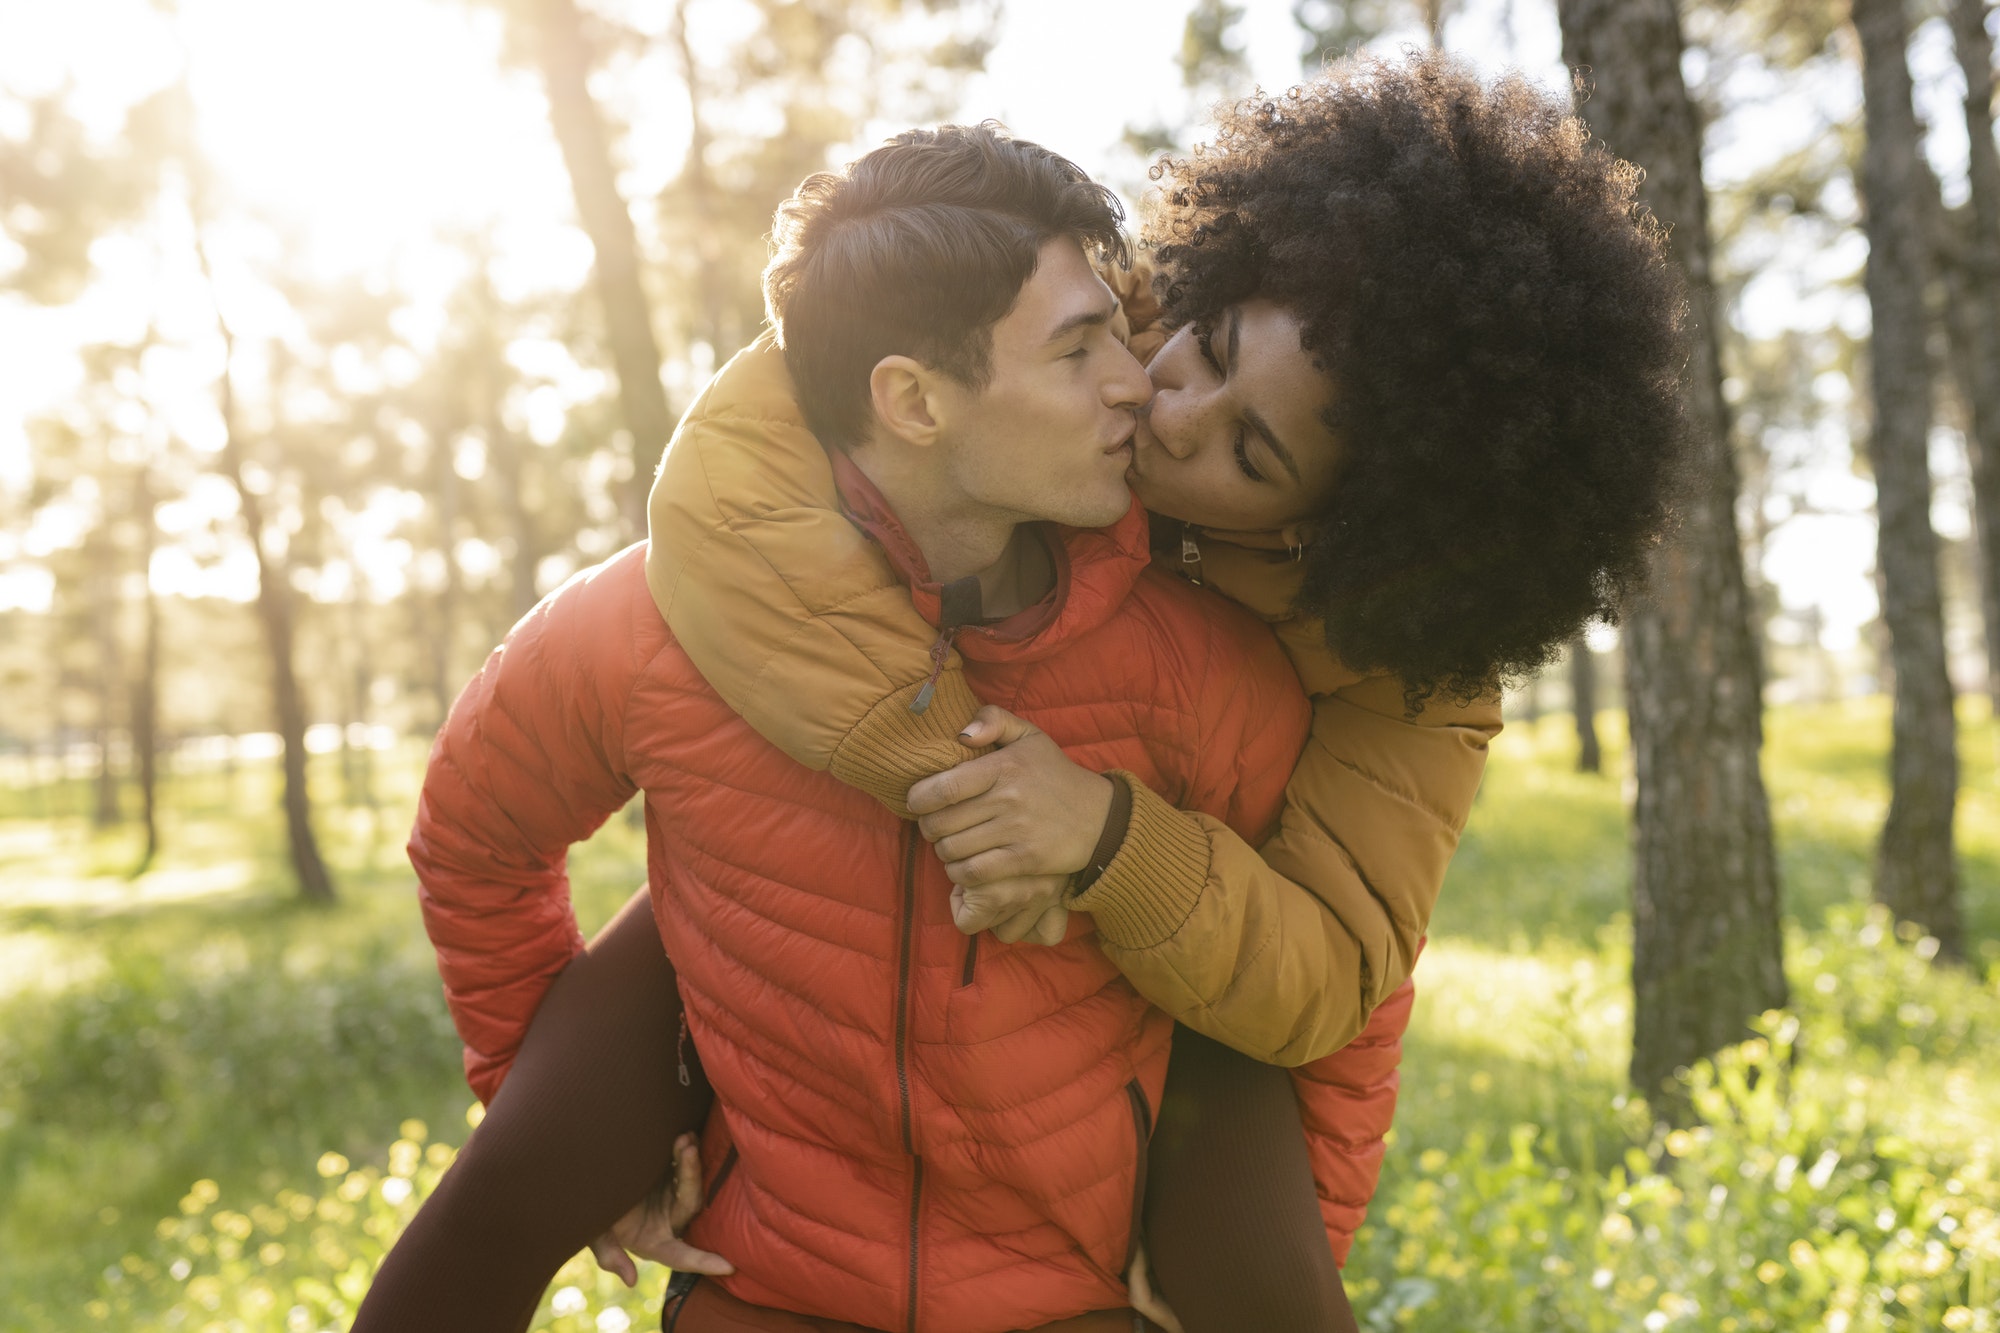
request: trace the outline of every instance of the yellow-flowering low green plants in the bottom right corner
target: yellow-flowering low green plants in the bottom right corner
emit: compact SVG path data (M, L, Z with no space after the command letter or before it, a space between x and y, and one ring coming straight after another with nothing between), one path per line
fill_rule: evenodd
M1398 1153L1348 1269L1366 1325L2000 1327L1992 1145L1898 1133L1880 1079L1794 1065L1792 1015L1762 1027L1692 1073L1694 1129L1652 1131L1616 1097L1604 1169L1538 1123Z

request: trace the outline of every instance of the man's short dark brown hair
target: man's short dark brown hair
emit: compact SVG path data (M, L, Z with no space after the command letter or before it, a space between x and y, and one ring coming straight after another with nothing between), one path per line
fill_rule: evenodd
M778 206L764 308L806 424L856 446L868 376L912 356L970 388L992 374L992 326L1070 236L1126 258L1124 208L1080 166L998 124L906 130Z

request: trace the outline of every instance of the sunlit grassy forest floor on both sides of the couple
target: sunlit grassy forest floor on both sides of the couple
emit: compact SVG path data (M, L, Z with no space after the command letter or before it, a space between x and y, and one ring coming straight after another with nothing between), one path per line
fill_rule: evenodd
M1772 717L1794 1007L1662 1135L1622 1079L1618 739L1582 777L1568 719L1508 729L1418 973L1366 1327L2000 1329L1996 737L1968 701L1974 965L1940 969L1866 909L1886 731L1876 701ZM346 1327L470 1105L400 849L420 763L324 811L332 911L244 815L264 769L178 777L140 877L80 791L0 789L0 1329ZM642 853L624 819L576 851L586 929ZM658 1287L578 1261L536 1327L646 1327Z

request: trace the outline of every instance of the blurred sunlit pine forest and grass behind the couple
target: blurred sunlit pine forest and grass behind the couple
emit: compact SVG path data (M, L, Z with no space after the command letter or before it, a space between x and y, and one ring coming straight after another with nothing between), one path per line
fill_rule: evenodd
M1510 695L1364 1327L2000 1329L1996 32L0 0L0 1329L344 1327L468 1123L402 861L428 737L644 536L806 172L996 114L1142 212L1206 106L1364 44L1586 70L1692 280L1706 450L1654 598ZM572 875L594 929L642 833ZM536 1327L658 1277L578 1261Z

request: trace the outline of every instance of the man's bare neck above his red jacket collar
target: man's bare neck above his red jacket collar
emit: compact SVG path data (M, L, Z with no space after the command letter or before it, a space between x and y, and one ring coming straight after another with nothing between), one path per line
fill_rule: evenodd
M854 450L852 458L924 552L934 582L980 580L988 620L1026 610L1054 586L1054 562L1032 524L968 500L938 466L912 464L892 450L868 446Z

